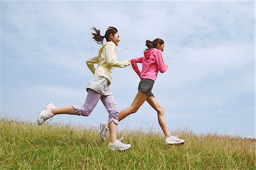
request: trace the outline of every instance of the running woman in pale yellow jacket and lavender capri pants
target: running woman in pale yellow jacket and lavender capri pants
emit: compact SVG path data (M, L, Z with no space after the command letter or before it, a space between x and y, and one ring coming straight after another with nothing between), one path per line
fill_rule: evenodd
M88 92L83 106L68 106L56 108L52 103L48 103L46 108L38 115L38 124L42 125L47 119L52 118L57 114L73 114L88 116L98 101L101 99L109 113L109 130L110 143L109 147L112 150L127 150L131 147L130 144L124 144L121 140L117 140L117 124L118 124L118 107L115 103L113 94L109 88L112 80L112 71L114 67L123 68L130 65L130 61L117 60L116 47L119 43L119 33L117 28L109 27L104 36L100 35L100 30L92 28L95 33L92 33L93 39L103 46L98 51L98 55L86 61L90 71L94 74L89 82L86 90ZM103 44L104 38L106 43ZM98 64L97 68L94 64ZM102 128L102 127L101 127Z

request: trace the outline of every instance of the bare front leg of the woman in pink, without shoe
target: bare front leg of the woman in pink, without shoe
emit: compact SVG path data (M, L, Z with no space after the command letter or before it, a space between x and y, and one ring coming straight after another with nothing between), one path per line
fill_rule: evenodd
M160 103L155 99L155 97L148 97L147 102L158 112L158 122L161 126L164 135L170 136L170 132L168 130L166 119L164 118L164 108Z

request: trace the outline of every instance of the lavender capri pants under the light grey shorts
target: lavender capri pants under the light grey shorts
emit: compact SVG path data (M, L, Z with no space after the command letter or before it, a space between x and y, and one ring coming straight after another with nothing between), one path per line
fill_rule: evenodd
M73 110L71 114L88 116L90 113L92 113L94 107L97 105L100 99L106 107L106 110L108 110L109 123L114 121L115 124L118 124L119 110L117 104L115 103L113 94L109 96L103 96L92 89L88 89L88 94L83 106L72 106L75 110Z

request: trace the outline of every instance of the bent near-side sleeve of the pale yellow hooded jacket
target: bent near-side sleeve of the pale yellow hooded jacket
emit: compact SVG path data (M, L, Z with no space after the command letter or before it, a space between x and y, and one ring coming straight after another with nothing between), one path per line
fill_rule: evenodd
M106 46L106 64L112 67L126 67L130 65L129 60L117 61L115 59L116 46L114 43L110 43Z

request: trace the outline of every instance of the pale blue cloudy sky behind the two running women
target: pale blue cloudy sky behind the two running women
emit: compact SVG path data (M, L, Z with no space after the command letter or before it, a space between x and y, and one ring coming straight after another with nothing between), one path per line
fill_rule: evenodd
M158 73L152 92L171 131L255 136L254 1L1 1L0 13L2 118L36 123L48 102L83 105L93 77L85 61L101 48L90 28L104 35L114 26L119 61L143 56L146 40L164 40L169 69ZM121 111L140 80L131 66L112 77ZM100 101L89 117L63 114L49 123L102 121L108 112ZM147 102L118 128L161 131Z

